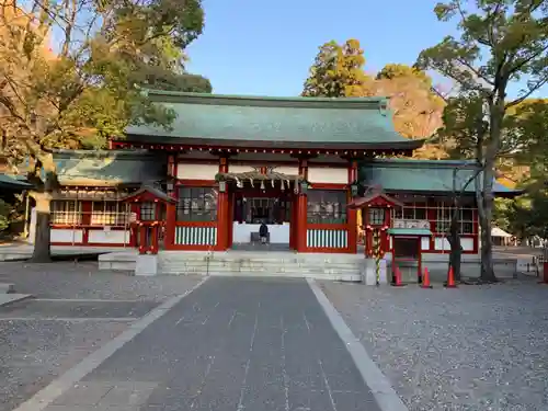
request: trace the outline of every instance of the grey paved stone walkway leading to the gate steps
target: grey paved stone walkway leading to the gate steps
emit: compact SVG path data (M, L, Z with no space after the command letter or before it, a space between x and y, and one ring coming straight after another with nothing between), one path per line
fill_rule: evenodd
M46 411L379 411L305 281L210 278Z

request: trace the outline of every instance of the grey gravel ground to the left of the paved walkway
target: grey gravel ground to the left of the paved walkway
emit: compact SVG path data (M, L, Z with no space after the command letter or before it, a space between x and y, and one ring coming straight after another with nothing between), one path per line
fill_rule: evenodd
M13 410L134 318L201 279L99 272L96 263L0 263L0 283L43 298L0 307L0 411Z

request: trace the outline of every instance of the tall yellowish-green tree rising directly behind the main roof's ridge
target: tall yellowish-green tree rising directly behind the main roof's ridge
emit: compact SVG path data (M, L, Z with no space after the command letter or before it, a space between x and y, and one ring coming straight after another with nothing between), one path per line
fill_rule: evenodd
M323 44L305 81L304 96L362 96L372 78L364 71L364 50L357 39Z

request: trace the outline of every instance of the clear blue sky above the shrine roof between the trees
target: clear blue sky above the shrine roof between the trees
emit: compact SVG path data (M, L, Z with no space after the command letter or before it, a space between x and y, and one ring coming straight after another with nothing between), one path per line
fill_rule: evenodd
M357 38L369 72L412 65L452 34L454 25L434 15L436 2L204 0L205 32L186 50L187 69L219 94L298 95L318 47L331 39Z

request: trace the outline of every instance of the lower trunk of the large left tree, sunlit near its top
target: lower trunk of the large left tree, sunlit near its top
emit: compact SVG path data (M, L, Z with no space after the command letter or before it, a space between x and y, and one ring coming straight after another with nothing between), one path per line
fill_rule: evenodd
M52 261L50 250L50 204L52 196L45 193L33 193L36 201L36 227L34 236L34 251L31 262L47 263Z

